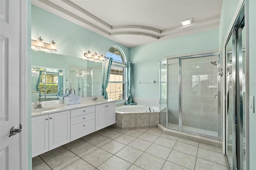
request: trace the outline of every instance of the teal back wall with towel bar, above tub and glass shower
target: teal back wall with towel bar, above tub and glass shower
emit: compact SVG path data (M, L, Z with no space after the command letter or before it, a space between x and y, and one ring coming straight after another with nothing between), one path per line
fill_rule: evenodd
M159 98L159 61L165 59L165 56L218 48L218 29L130 48L130 61L133 63L133 96ZM139 80L155 80L156 83L138 84Z

